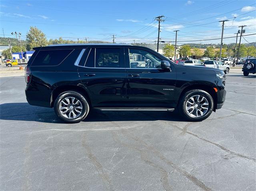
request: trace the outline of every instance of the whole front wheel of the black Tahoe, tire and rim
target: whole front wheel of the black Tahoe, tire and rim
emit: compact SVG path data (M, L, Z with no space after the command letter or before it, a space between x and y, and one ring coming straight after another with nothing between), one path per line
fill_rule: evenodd
M199 102L198 102L198 96L199 96ZM195 98L194 104L188 103L188 102L193 103L191 97ZM196 105L198 105L198 108L196 107L196 109L194 109L195 107L193 108L193 106L196 106ZM190 109L188 110L189 107L191 107L190 108L191 110ZM207 110L203 108L207 108ZM180 112L180 115L189 121L202 121L208 118L212 113L213 108L214 108L214 102L213 102L212 96L206 91L198 90L198 89L190 90L186 92L182 96L178 104L178 110Z

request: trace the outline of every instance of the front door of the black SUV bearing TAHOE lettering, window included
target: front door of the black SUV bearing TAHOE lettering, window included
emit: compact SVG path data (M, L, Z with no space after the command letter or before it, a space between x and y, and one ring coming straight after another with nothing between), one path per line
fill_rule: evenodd
M172 107L176 72L160 68L161 61L153 51L125 48L127 98L129 106Z

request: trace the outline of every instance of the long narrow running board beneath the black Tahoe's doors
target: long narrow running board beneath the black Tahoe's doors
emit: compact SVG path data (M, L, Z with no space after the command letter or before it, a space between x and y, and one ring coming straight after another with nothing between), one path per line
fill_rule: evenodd
M95 107L102 111L174 111L174 108L148 108L148 107Z

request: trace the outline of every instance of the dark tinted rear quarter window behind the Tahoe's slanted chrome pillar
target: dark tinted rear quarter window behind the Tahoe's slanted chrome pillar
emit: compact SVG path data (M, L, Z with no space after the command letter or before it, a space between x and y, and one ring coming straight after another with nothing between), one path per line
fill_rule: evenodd
M72 50L73 49L40 50L36 55L32 66L59 65L71 53Z

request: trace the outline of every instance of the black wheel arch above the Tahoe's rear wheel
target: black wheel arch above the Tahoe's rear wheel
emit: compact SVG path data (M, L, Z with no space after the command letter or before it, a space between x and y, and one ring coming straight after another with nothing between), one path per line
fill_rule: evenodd
M91 105L90 94L84 87L76 86L76 85L62 85L52 91L51 101L50 101L51 107L54 106L54 102L55 102L56 98L58 97L58 95L60 95L60 93L65 92L65 91L76 91L76 92L82 94L87 99L88 104Z

